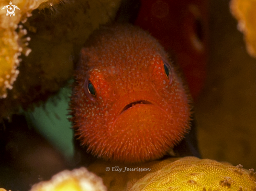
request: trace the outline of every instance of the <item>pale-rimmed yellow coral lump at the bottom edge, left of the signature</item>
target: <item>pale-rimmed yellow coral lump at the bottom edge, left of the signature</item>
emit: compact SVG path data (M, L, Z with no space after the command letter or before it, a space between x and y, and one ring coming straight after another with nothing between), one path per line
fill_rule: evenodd
M85 168L62 171L50 181L32 186L30 191L106 191L102 179Z

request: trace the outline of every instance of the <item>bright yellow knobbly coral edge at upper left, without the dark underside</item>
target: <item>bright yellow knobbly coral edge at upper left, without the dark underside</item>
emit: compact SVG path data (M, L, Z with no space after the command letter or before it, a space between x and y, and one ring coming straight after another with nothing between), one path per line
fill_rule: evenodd
M26 31L19 36L15 31L18 28L20 21L25 22L27 17L31 14L31 11L36 9L42 2L47 0L14 0L13 5L19 7L16 9L15 16L6 16L6 10L0 10L0 98L7 96L6 89L12 89L13 82L16 80L19 71L17 66L19 65L18 56L20 52L29 54L30 50L25 49L26 44L21 44L21 35L26 34ZM1 1L0 7L9 5L9 1Z

